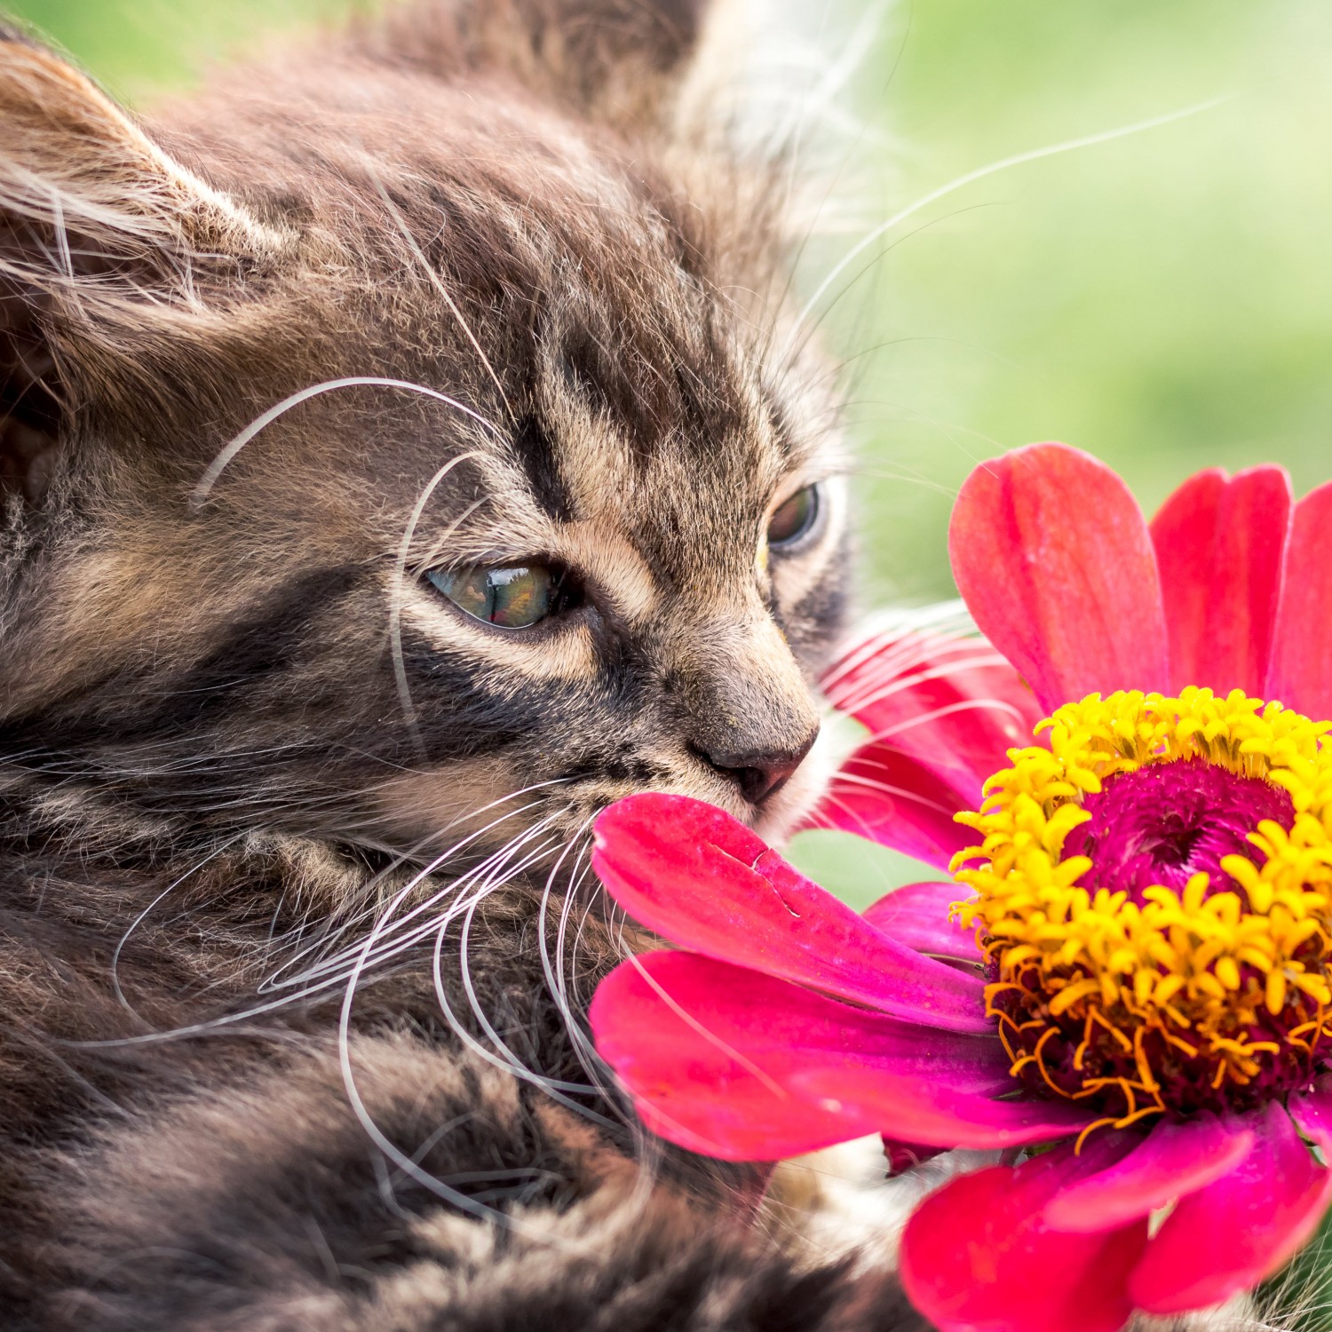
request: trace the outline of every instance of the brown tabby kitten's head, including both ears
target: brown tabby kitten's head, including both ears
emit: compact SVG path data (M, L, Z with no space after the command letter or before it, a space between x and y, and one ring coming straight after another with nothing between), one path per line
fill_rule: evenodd
M394 850L807 809L834 386L697 27L418 5L169 128L0 41L11 777Z

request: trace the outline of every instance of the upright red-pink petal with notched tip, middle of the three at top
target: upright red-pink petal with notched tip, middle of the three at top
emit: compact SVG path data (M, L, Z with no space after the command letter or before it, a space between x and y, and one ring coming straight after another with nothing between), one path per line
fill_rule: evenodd
M1152 519L1171 687L1263 697L1291 530L1291 478L1252 468L1189 477Z

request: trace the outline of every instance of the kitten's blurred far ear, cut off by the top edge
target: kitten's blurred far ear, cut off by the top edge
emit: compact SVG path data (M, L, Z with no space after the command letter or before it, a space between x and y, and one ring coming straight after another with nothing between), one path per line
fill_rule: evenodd
M452 75L500 68L621 128L669 117L707 0L406 0L381 32L397 59Z

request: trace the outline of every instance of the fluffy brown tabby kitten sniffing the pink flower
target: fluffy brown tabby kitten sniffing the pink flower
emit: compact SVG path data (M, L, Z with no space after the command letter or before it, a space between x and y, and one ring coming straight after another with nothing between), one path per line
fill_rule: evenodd
M843 614L701 21L424 0L145 125L0 35L7 1328L916 1325L582 1022L591 817L793 826Z

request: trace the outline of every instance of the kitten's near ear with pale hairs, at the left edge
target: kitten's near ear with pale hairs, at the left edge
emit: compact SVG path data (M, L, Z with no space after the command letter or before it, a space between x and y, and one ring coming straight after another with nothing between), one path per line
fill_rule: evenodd
M274 242L93 83L0 25L0 500L41 497L89 366L136 312L200 300L198 256Z

